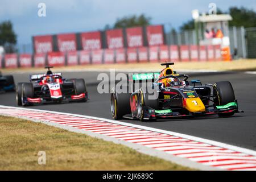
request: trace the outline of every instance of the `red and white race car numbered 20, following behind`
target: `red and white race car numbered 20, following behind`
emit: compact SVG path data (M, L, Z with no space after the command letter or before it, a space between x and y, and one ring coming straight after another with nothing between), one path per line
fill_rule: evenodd
M86 102L88 93L82 78L63 78L61 73L30 75L30 82L19 82L16 85L16 102L19 106L34 104Z

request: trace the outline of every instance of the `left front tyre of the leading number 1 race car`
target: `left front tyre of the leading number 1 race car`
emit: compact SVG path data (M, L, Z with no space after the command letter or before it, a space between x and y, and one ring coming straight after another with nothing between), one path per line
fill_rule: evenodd
M154 90L155 94L157 94L156 90ZM148 93L148 90L146 88L141 88L138 93L138 104L137 104L137 113L138 118L141 121L144 121L144 106L151 107L152 109L159 109L159 101L158 101L158 95L155 98L150 98L152 94Z

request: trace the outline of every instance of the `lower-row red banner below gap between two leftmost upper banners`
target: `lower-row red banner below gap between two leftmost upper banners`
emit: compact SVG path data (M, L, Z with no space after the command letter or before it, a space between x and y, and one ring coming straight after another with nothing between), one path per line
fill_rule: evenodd
M48 52L48 65L53 67L65 65L65 55L63 52Z

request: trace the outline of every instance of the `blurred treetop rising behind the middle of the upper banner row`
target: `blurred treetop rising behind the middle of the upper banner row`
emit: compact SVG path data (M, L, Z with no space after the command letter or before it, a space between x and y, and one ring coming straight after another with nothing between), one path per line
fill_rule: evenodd
M137 26L147 26L150 24L151 18L141 14L125 16L123 18L118 18L114 24L114 28L126 28L126 27L137 27Z

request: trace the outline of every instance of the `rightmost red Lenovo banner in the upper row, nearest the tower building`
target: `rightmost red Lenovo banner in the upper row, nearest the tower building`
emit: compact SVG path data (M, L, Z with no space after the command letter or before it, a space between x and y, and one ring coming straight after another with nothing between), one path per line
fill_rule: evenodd
M164 44L163 26L147 26L147 42L148 46Z

